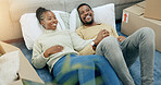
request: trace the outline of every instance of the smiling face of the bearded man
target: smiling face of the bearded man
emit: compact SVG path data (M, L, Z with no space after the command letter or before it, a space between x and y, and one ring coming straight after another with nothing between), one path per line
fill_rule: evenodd
M94 11L88 5L83 5L78 9L78 14L82 22L90 25L94 22Z

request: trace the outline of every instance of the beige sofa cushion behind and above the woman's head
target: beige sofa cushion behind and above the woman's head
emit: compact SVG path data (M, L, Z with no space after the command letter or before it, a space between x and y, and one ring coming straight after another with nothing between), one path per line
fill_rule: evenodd
M11 20L18 22L24 13L35 13L39 7L65 11L64 0L9 0Z

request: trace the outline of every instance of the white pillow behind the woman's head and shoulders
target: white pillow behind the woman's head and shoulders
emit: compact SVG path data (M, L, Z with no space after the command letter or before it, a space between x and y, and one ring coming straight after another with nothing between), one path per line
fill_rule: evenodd
M69 17L67 12L52 11L58 19L57 29L69 29ZM33 49L35 39L42 34L44 27L39 24L36 13L25 13L20 20L23 37L25 45L28 50Z

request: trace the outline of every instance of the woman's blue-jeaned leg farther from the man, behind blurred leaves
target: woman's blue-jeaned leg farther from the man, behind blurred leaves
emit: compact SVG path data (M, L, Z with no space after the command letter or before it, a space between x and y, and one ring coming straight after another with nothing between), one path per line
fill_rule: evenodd
M53 76L59 84L95 85L95 63L84 56L63 57L53 66Z

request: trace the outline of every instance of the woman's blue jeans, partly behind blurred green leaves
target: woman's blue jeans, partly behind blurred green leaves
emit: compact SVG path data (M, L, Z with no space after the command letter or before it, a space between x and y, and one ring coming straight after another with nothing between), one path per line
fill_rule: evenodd
M100 72L100 76L96 76L95 72ZM64 56L54 64L53 76L58 84L120 85L108 60L97 54Z

